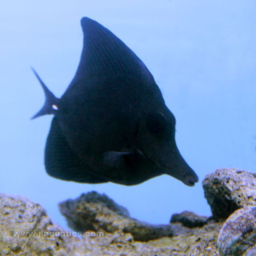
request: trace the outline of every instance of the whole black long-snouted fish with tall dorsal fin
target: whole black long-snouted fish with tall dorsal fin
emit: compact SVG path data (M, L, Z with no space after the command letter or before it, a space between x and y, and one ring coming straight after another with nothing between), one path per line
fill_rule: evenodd
M119 38L82 18L84 47L61 99L44 85L53 114L45 148L52 177L83 183L135 185L168 174L188 186L198 176L175 143L175 117L145 64ZM35 71L34 71L35 72Z

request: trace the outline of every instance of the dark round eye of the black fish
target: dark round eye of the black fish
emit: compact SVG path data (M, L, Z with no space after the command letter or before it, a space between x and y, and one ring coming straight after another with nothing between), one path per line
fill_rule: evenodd
M160 134L166 131L166 118L160 112L149 113L145 120L148 131L152 134Z

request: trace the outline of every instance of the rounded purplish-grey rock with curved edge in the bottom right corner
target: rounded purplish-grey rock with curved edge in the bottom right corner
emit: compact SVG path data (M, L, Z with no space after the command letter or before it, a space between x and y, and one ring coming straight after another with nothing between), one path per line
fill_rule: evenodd
M217 244L221 256L256 255L256 207L233 212L223 224Z

